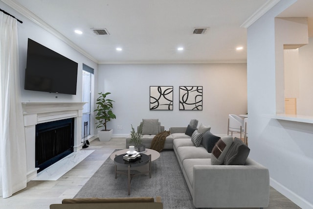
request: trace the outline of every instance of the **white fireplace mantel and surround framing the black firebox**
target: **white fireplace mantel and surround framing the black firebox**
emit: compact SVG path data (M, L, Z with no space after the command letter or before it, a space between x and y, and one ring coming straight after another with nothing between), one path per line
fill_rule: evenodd
M85 102L25 102L22 103L26 140L27 182L37 177L35 167L36 124L74 118L74 152L82 149L81 127Z

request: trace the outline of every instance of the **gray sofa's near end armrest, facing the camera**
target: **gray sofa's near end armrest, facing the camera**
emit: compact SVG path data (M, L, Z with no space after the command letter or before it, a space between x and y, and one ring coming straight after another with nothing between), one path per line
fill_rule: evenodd
M194 165L192 188L196 208L208 203L210 208L266 208L269 172L248 159L246 165Z

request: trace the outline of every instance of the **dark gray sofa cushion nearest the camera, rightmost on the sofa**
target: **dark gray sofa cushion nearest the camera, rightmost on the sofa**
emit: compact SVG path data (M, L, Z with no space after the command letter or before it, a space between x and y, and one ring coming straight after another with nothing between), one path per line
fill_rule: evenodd
M225 159L225 165L244 165L249 155L250 148L241 140L235 137L231 144Z

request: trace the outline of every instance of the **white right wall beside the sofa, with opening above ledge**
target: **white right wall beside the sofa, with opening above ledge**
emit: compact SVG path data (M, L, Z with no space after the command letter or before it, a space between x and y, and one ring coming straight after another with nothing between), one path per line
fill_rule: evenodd
M313 208L313 124L268 117L276 114L274 18L294 1L280 1L247 30L249 156L268 167L271 186L308 209Z

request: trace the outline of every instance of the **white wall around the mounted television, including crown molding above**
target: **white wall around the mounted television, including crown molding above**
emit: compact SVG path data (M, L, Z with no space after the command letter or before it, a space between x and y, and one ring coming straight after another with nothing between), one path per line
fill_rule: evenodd
M82 101L82 68L83 63L89 67L97 70L97 64L91 61L74 48L67 45L62 40L58 39L36 23L28 20L11 7L0 1L1 9L7 11L23 23L18 23L18 37L19 37L19 57L20 57L20 78L21 78L21 93L22 102L81 102ZM28 38L44 45L63 56L78 63L77 75L77 91L76 95L62 94L62 93L45 93L24 90L24 73L26 68L27 57L27 40ZM55 96L58 96L56 99Z

